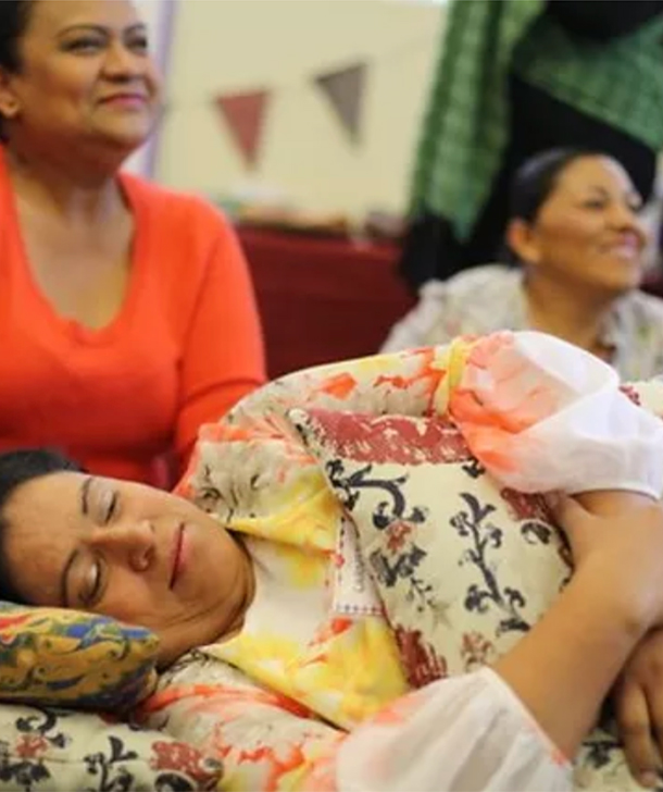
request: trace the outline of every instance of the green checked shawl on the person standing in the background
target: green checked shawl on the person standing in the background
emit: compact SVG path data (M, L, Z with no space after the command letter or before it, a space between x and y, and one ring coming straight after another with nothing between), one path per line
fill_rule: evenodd
M545 8L545 0L449 3L410 212L446 218L461 242L488 198L508 143L512 70L649 146L663 145L663 20L609 44L580 42Z

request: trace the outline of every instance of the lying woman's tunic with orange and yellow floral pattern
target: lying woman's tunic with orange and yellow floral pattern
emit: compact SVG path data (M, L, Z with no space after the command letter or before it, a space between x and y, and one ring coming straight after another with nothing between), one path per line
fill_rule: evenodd
M492 345L492 352L522 351L517 337L460 339L300 372L249 396L202 432L179 492L243 537L254 560L257 596L241 633L184 658L162 679L142 717L222 757L228 789L406 789L413 778L408 763L400 769L393 764L396 776L386 779L379 753L366 747L366 733L373 733L366 730L375 722L388 726L391 744L408 746L409 764L416 762L421 770L421 789L440 789L442 778L465 788L570 788L567 764L488 669L422 679L424 686L408 694L418 681L406 679L375 580L346 530L341 502L288 420L292 408L453 419L454 405L467 407L465 373L489 359L481 345ZM527 354L533 349L536 344ZM589 364L590 356L573 347L565 354L575 371ZM528 364L537 371L545 359L535 355ZM510 370L498 378L498 389ZM454 423L461 431L474 426L475 441L483 424L500 425L540 455L543 448L529 443L530 431L575 400L564 400L564 378L554 382L548 378L545 388L528 392L522 414L521 408L498 409L497 403L481 410L477 400ZM658 422L635 410L616 387L595 393L597 414L614 408L631 426L649 422L652 442L645 450L653 454ZM565 436L573 438L573 432ZM420 454L417 448L410 456ZM514 472L498 455L491 463L497 475ZM616 482L628 473L613 472ZM648 492L651 480L634 477L629 484ZM433 676L440 675L443 668ZM428 717L418 718L424 710L434 713L436 729ZM481 738L485 723L501 725L491 741ZM477 771L483 787L476 787Z

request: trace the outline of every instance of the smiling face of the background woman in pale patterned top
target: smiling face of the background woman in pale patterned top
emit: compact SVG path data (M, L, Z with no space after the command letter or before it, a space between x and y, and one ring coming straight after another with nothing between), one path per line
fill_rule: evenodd
M573 160L531 223L512 221L511 247L542 276L571 288L615 294L642 277L647 234L641 199L627 173L608 157Z

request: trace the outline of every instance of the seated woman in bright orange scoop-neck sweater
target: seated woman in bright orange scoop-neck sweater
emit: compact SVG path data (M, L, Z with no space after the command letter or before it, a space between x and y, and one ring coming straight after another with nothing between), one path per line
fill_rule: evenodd
M223 216L118 172L159 103L128 0L0 2L0 449L166 485L264 360Z

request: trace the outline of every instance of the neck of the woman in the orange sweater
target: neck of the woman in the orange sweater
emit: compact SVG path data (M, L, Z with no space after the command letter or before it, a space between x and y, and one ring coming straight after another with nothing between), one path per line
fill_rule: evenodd
M27 206L70 222L107 221L123 205L115 171L86 166L72 157L51 157L5 147L5 161L16 196Z

